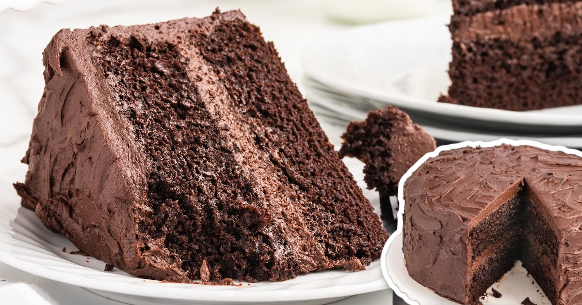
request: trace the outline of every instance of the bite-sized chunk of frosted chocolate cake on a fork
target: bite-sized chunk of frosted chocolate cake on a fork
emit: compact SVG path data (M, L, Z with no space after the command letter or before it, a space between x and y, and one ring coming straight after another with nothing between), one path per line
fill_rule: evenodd
M364 180L369 189L378 191L383 218L394 217L389 197L396 196L402 175L437 148L430 134L393 106L371 111L363 122L353 121L342 138L339 155L365 163Z

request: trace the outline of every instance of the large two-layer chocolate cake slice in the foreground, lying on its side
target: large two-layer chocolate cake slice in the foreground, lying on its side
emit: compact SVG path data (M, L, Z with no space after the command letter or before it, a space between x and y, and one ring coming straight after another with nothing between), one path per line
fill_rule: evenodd
M22 204L139 277L359 270L377 214L242 13L61 30L44 51Z

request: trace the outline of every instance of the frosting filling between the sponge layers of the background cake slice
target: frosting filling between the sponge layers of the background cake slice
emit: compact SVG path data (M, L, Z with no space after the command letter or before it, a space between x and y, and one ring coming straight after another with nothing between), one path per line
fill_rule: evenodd
M528 45L556 33L563 36L582 33L582 2L521 4L473 16L453 15L450 29L455 42L509 40Z

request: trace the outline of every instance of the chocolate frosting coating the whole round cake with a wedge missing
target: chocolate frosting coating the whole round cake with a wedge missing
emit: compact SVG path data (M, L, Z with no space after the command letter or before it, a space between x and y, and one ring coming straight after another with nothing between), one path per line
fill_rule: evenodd
M533 146L446 150L404 182L404 259L411 277L463 302L467 234L525 184L558 236L560 304L582 302L582 157Z

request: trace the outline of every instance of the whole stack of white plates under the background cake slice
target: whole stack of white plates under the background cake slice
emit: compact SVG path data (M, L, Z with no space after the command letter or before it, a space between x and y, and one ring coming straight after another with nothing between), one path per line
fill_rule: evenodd
M343 128L393 105L443 143L510 138L582 148L582 105L512 112L438 103L450 84L448 22L371 24L312 45L302 89L315 114Z

